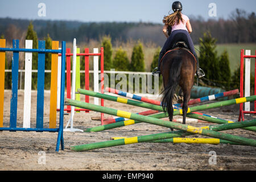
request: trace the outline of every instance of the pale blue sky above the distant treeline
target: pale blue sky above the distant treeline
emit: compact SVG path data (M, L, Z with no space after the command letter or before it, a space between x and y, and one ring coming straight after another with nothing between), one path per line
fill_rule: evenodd
M174 2L167 0L0 1L0 18L151 23L162 23L163 16L168 15L172 2ZM183 0L180 2L183 4L183 14L202 16L205 20L209 18L228 19L232 11L237 8L247 13L256 12L256 0ZM44 3L45 8L38 7L40 3ZM209 7L211 3L216 5L216 9L213 6Z

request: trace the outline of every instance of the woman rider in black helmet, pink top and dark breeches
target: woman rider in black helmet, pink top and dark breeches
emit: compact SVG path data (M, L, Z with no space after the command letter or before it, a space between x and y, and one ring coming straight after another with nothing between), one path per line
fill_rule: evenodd
M152 75L159 74L160 75L160 60L164 56L164 53L168 51L168 49L172 48L174 44L178 41L184 41L187 43L188 48L192 51L193 55L196 58L196 75L198 78L201 78L204 76L204 73L201 72L202 70L199 68L199 60L195 52L195 48L191 39L191 36L189 35L192 32L192 27L189 22L188 16L181 14L182 5L179 1L175 1L172 3L172 10L174 13L164 16L163 23L163 33L167 37L166 43L164 43L164 46L159 54L158 59L158 67L155 72L153 71ZM171 29L171 32L170 32ZM167 32L168 30L168 32ZM154 69L154 70L155 70Z

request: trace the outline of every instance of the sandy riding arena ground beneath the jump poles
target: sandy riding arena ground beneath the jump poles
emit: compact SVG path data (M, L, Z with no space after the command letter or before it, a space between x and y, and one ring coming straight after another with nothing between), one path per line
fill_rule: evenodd
M11 92L5 92L4 127L9 127ZM48 127L49 92L45 92L44 127ZM32 93L31 122L36 120L36 92ZM92 98L90 99L93 102ZM147 109L105 101L105 106L137 113ZM203 111L215 117L237 121L238 105L221 109ZM100 117L100 113L76 113L74 127L86 129L100 126L100 121L91 117ZM105 115L105 117L109 117ZM64 116L64 126L69 115ZM180 118L175 116L174 118ZM254 116L246 116L253 119ZM18 92L18 127L23 121L23 91ZM209 123L189 123L192 126L207 126ZM170 131L165 127L139 123L99 133L64 133L65 150L55 152L57 133L36 132L0 132L0 170L255 170L256 152L251 146L230 144L172 144L172 143L136 143L125 146L101 148L97 150L74 152L71 146L110 140L111 137L135 137ZM234 135L256 139L253 131L236 129L225 131ZM193 135L193 137L201 137ZM209 152L215 151L217 163L209 164ZM44 155L45 154L45 155ZM45 159L45 160L44 160Z

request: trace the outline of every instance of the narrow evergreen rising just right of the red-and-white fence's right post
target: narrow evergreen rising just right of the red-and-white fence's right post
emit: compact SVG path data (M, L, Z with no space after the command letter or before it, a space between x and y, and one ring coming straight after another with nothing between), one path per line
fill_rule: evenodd
M112 68L112 43L110 36L104 36L102 45L104 48L104 70L109 71Z

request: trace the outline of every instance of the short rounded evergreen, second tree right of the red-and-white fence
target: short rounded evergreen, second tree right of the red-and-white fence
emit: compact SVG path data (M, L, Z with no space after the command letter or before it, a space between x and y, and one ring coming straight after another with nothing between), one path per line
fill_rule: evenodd
M115 71L129 71L129 59L126 51L121 47L115 53L113 67L115 68Z

